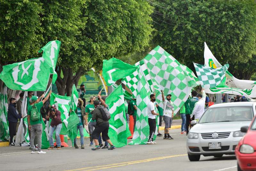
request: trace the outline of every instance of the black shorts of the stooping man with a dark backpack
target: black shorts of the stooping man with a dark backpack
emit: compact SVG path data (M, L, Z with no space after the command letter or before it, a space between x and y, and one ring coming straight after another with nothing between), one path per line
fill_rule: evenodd
M103 123L101 125L96 125L95 129L92 132L92 138L98 139L100 137L100 133L101 133L103 141L109 140L108 128L109 128L109 123Z

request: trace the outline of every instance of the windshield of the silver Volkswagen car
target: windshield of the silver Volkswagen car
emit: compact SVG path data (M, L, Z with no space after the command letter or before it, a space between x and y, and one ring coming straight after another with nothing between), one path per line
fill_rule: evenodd
M251 106L208 108L198 123L252 121Z

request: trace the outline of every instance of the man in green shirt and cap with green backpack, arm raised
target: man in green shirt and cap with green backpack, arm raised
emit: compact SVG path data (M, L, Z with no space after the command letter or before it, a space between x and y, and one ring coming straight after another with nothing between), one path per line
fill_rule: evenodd
M31 154L35 153L35 145L34 145L34 139L35 139L35 135L37 134L37 143L38 143L38 154L44 154L46 152L41 151L41 145L42 145L42 120L44 121L45 119L42 118L42 115L40 113L40 109L43 107L43 104L45 103L45 101L48 100L50 94L52 93L52 91L50 90L50 92L48 93L48 95L44 98L44 100L42 100L42 102L39 102L43 97L44 94L37 99L36 96L32 96L31 97L31 105L28 106L28 128L31 132L31 138L30 138L30 146L31 146ZM35 111L34 109L37 109L37 112L39 113L39 117L40 119L34 120L34 114ZM31 112L33 113L33 117L31 116ZM37 114L38 114L37 113Z

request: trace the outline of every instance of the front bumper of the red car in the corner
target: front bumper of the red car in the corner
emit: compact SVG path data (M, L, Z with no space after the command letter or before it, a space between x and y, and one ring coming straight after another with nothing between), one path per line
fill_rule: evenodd
M236 159L242 170L256 170L256 152L243 154L236 150Z

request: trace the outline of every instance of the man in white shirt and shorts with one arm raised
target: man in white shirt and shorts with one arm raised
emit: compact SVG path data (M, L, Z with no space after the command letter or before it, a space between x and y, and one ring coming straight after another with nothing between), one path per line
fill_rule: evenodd
M173 139L169 134L169 129L172 126L172 118L174 114L174 107L173 103L171 101L172 95L167 94L166 99L164 99L164 92L161 90L162 93L162 99L164 102L164 139Z

